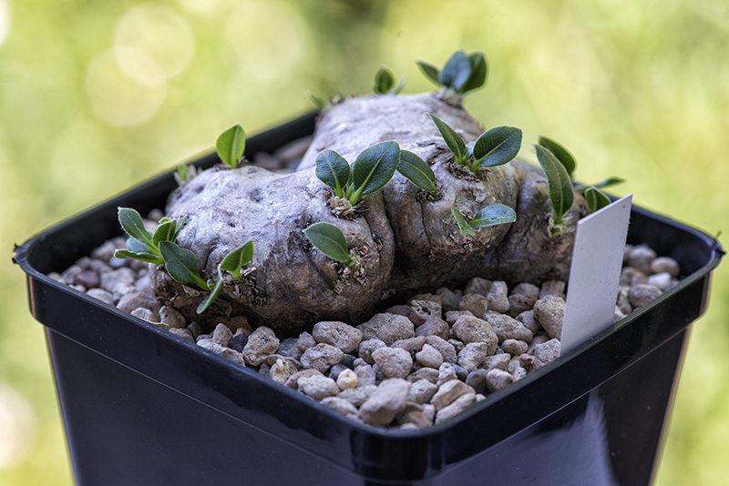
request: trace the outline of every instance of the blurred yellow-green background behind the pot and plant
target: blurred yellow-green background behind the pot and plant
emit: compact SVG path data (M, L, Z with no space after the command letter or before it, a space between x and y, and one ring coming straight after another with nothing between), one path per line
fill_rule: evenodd
M724 0L0 0L0 484L70 484L42 326L21 243L63 218L320 96L372 90L380 65L431 90L484 50L466 98L487 127L538 135L577 176L715 234L729 229L729 6ZM529 142L529 143L526 143ZM729 264L693 328L656 484L729 477Z

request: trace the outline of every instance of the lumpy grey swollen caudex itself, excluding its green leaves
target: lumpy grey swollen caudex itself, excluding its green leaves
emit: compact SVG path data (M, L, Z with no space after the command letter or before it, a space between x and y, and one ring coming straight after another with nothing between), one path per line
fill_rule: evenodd
M169 218L186 218L178 243L190 248L206 278L217 275L221 259L252 238L255 251L246 276L225 278L221 298L202 315L195 308L204 295L175 282L160 267L152 281L191 320L214 325L244 314L282 336L298 335L321 320L358 324L391 298L457 285L475 276L509 284L566 280L575 223L584 201L565 219L560 233L549 231L547 179L537 167L513 160L474 175L456 167L432 114L467 141L484 130L459 102L436 94L364 96L345 99L317 122L313 143L297 171L277 174L261 167L213 168L175 190ZM415 152L436 174L438 197L426 197L405 177L362 197L352 218L337 218L327 201L332 189L314 174L324 149L350 163L365 148L395 140ZM476 236L458 231L451 208L467 216L491 203L514 208L510 225L478 228ZM303 235L326 221L341 228L359 268L342 264L313 248Z

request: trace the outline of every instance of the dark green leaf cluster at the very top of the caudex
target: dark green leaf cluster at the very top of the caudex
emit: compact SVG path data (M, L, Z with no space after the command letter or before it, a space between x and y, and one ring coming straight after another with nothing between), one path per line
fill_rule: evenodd
M486 83L488 66L482 52L467 55L458 49L440 70L426 61L417 60L416 64L429 80L452 95L463 96Z

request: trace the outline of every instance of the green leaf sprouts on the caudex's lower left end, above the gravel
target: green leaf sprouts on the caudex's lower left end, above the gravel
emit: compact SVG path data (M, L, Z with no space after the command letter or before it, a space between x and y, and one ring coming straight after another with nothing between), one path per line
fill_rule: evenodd
M169 276L178 282L195 284L200 289L210 291L210 295L198 306L198 314L208 309L221 293L222 271L231 272L235 279L241 278L241 267L253 258L253 242L249 239L222 259L218 265L218 278L213 283L200 277L195 254L189 249L180 248L176 243L180 229L185 224L184 219L162 218L153 233L144 227L141 216L132 208L118 208L118 220L128 234L127 248L118 249L114 256L164 265Z

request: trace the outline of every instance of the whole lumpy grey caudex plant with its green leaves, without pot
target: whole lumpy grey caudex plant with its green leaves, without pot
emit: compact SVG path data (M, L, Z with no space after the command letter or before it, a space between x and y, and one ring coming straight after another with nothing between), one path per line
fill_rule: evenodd
M181 165L153 232L119 208L129 238L118 257L158 264L156 290L189 298L180 310L201 314L193 319L242 312L283 335L457 278L566 278L576 220L607 204L601 187L620 179L576 185L574 157L556 141L534 145L540 171L515 159L518 127L480 128L462 98L486 82L483 53L458 50L440 69L417 63L435 94L399 94L404 78L383 67L372 96L310 95L323 113L292 174L246 164L243 128L226 130L223 164Z

